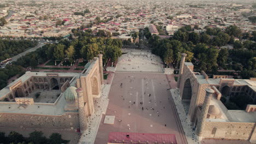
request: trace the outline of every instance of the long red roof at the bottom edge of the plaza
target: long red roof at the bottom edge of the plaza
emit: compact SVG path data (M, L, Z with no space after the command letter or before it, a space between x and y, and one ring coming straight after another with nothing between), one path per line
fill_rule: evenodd
M148 134L148 133L121 133L112 132L108 136L109 143L134 143L149 142L149 143L173 143L177 144L174 134Z

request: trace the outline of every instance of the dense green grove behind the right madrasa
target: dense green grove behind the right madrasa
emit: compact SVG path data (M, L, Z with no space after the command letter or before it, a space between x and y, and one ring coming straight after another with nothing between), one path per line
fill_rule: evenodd
M141 35L143 33L139 33ZM245 38L243 43L234 40L235 37ZM159 55L166 64L172 63L177 67L180 61L180 53L187 53L186 61L193 62L195 68L205 70L207 73L218 74L218 68L228 68L231 65L235 70L241 70L244 79L256 76L256 43L255 32L243 34L236 26L230 26L222 30L219 28L206 28L204 33L195 33L190 26L181 28L170 39L160 39L157 35L151 35L148 28L144 29L142 37L149 39L152 52ZM256 38L256 37L255 37ZM227 44L234 45L233 50L217 49Z

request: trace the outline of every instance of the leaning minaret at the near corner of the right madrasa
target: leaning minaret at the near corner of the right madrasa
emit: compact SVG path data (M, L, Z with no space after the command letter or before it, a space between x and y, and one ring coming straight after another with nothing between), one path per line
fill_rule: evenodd
M199 139L202 138L202 132L203 132L203 128L205 127L205 121L206 121L207 113L209 110L210 101L212 98L212 94L214 93L213 89L211 88L206 88L205 91L206 91L205 101L203 101L201 116L197 121L197 127L196 127L196 135L199 136Z

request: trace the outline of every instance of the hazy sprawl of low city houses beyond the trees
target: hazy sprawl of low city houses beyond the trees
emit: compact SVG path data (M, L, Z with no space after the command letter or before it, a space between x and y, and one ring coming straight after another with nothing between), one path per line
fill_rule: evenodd
M2 1L0 17L6 25L1 37L66 37L72 29L90 28L108 31L124 38L139 29L156 25L160 35L172 35L185 25L225 28L236 25L242 31L254 31L248 20L255 11L252 3L226 1ZM96 18L98 21L96 21ZM126 38L126 37L125 37Z

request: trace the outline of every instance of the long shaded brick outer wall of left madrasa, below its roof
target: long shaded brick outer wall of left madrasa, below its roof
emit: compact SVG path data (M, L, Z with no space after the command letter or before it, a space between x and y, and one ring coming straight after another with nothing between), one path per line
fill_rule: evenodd
M77 129L78 113L65 113L62 116L0 113L0 127Z

